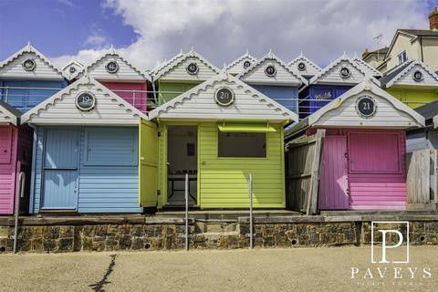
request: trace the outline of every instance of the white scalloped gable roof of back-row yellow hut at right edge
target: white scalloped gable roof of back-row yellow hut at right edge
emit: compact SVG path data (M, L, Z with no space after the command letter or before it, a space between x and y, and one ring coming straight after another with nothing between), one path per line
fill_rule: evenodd
M432 80L436 82L434 86L438 86L438 75L436 75L436 73L433 72L433 70L429 68L429 66L424 64L422 61L411 59L385 72L383 74L383 77L380 79L381 87L385 89L391 88L391 86L394 85L394 83L401 80L401 78L403 78L407 73L409 73L409 71L414 67L420 67L425 72L429 73ZM423 84L415 83L415 85L423 85Z

